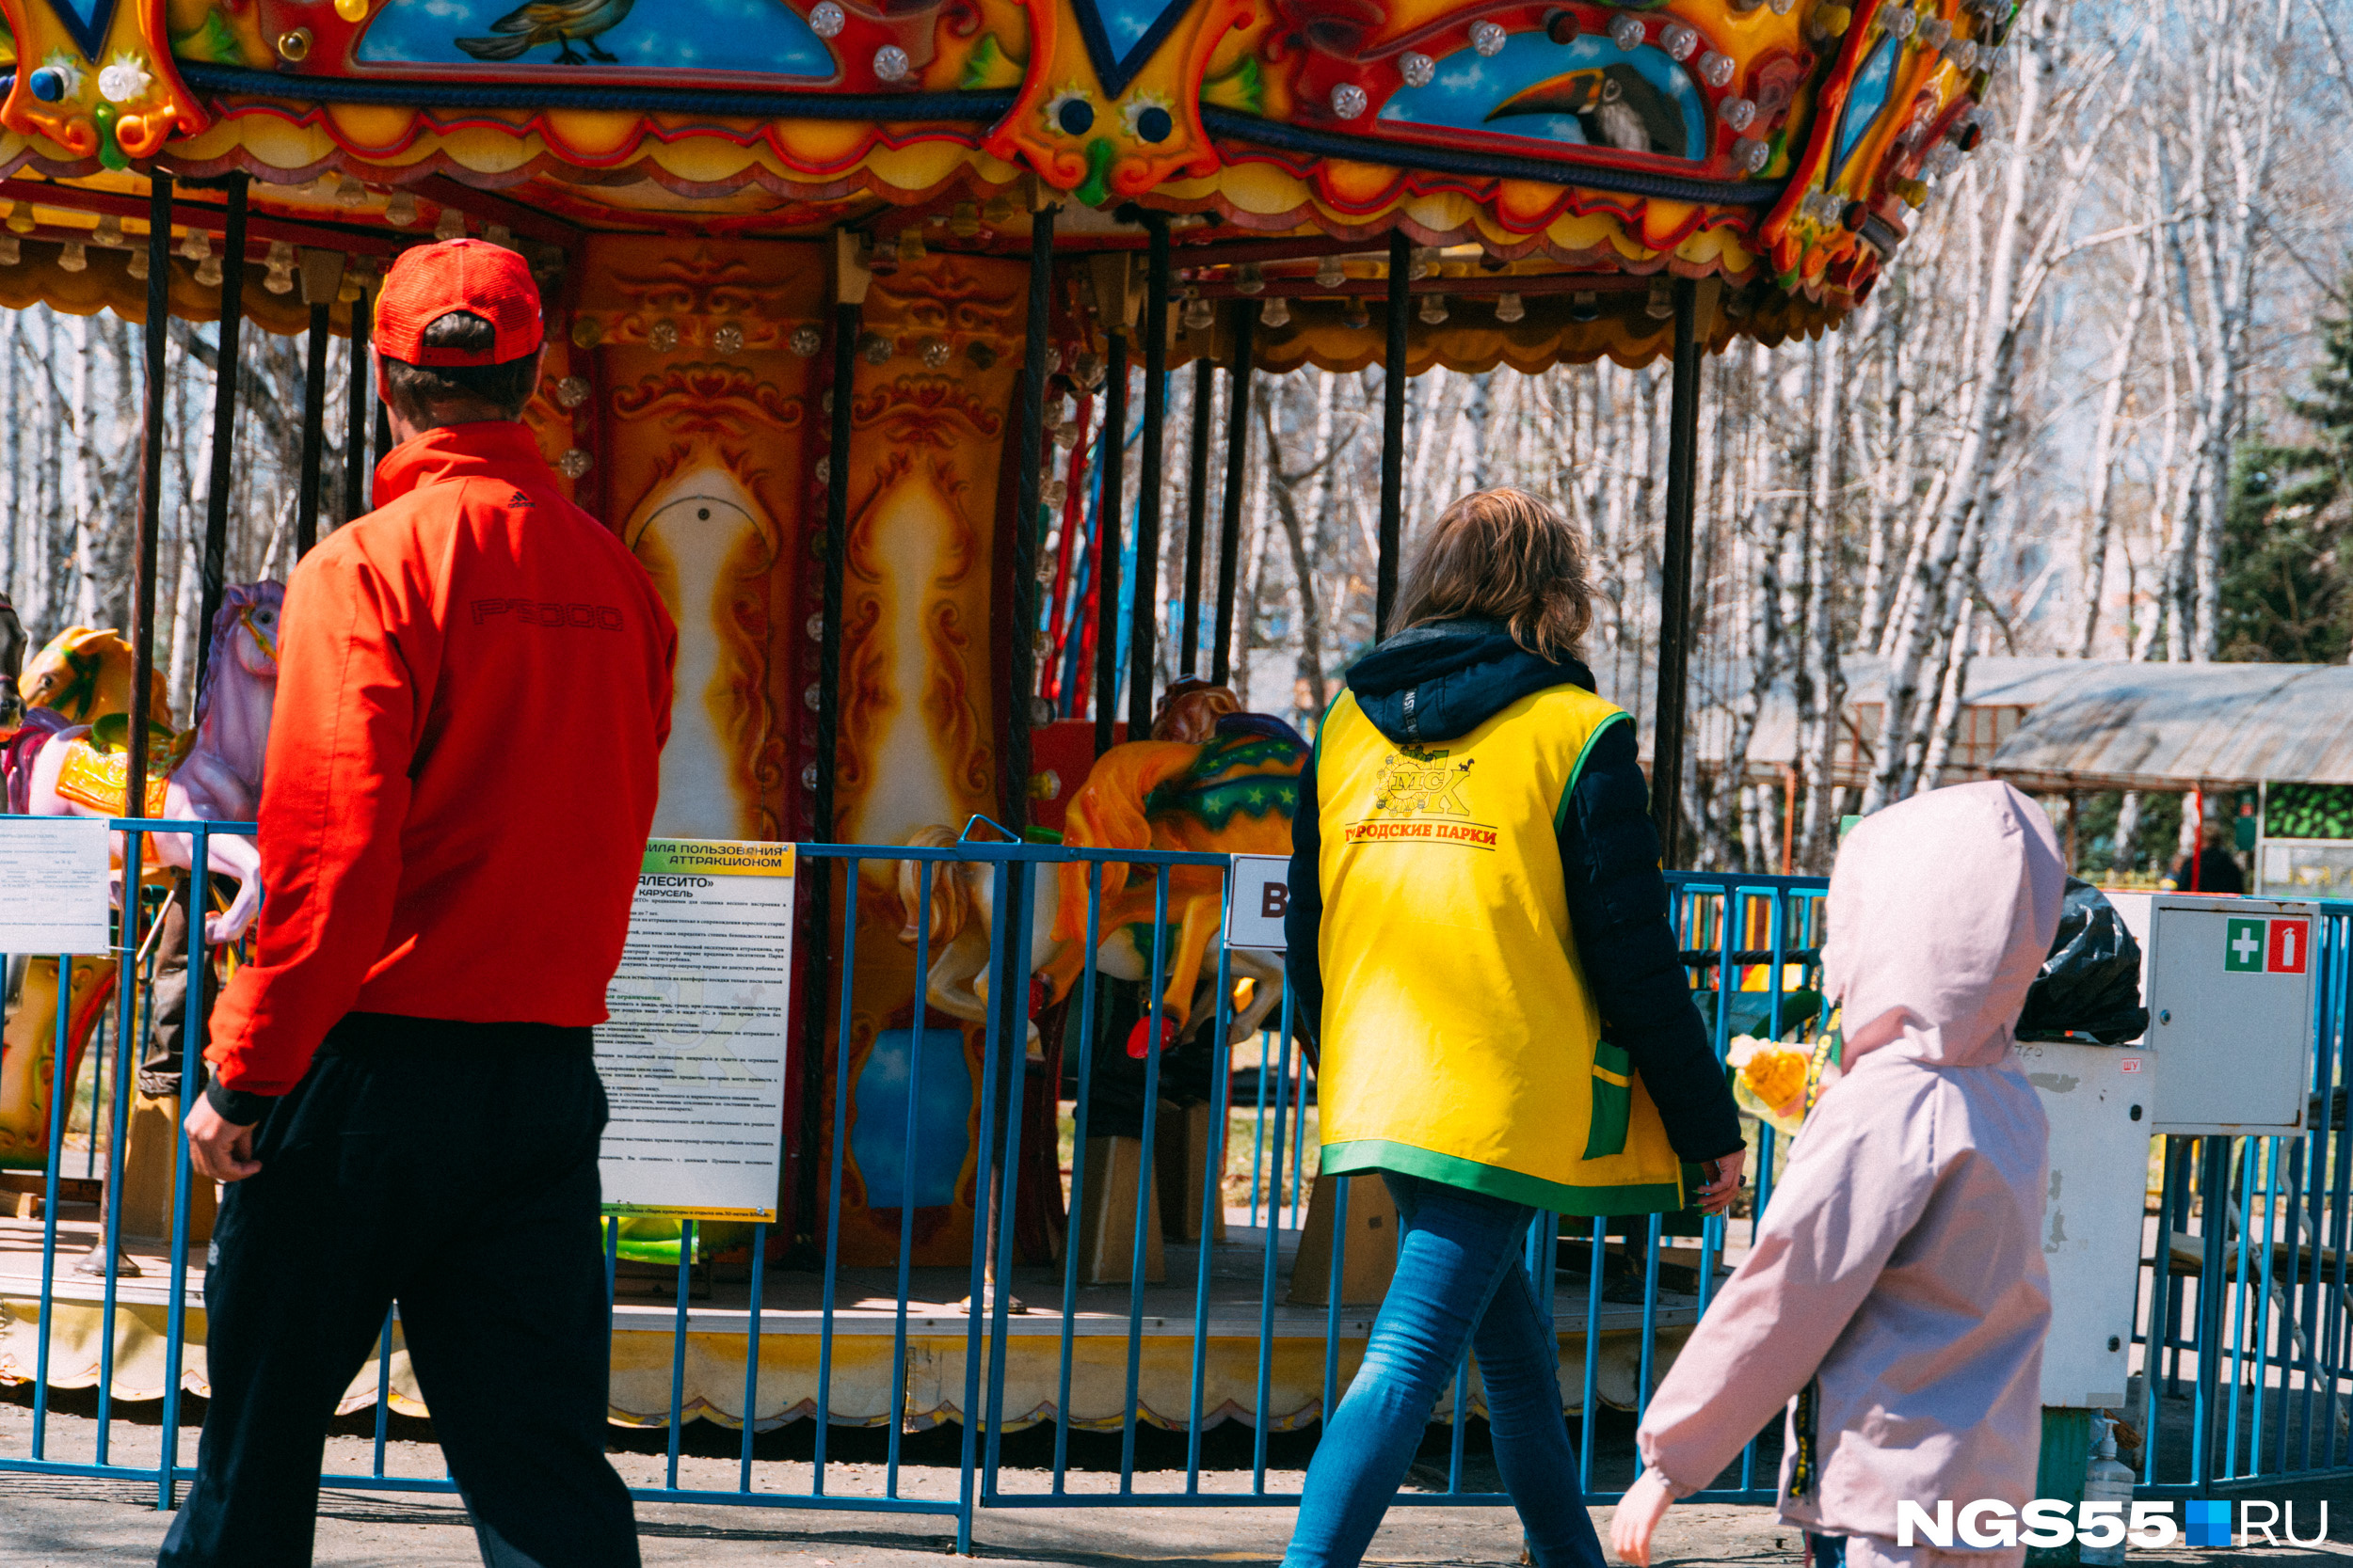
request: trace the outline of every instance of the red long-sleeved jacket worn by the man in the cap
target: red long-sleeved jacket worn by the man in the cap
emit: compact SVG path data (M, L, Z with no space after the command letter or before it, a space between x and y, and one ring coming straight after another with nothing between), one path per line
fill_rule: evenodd
M395 447L376 510L287 588L221 1088L289 1091L351 1011L602 1023L675 656L645 569L522 425Z

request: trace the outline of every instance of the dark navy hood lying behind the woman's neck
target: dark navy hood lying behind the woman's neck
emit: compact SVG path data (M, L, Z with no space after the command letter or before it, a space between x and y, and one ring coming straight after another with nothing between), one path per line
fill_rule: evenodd
M1355 705L1400 745L1466 736L1546 686L1593 691L1593 672L1529 654L1501 621L1414 625L1348 670Z

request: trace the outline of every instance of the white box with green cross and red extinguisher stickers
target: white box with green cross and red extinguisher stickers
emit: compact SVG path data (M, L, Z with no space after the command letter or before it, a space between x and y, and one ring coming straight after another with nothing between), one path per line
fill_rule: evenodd
M2280 898L2148 903L2148 1037L2160 1133L2292 1133L2313 1063L2320 912Z

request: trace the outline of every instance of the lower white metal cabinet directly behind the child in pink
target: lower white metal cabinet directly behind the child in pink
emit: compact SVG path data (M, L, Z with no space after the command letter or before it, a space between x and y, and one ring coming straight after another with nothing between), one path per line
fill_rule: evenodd
M2042 1190L2042 1262L2052 1272L2042 1403L2115 1410L2132 1359L2158 1058L2019 1041L2019 1067L2052 1124L2052 1175Z

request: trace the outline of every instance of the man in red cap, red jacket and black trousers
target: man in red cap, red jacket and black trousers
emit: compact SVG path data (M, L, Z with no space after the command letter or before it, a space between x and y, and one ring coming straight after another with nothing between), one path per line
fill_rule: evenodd
M678 635L515 423L539 292L480 240L376 306L398 444L294 571L261 785L256 961L188 1112L233 1182L212 1406L162 1563L311 1561L327 1420L386 1307L482 1561L638 1563L605 1460L605 1091Z

